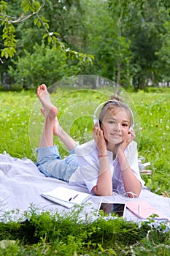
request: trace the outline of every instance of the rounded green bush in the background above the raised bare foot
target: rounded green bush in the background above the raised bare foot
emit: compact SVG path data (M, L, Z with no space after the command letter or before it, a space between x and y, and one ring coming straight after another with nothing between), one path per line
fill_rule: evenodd
M15 83L24 89L31 89L41 83L52 85L62 78L77 75L81 69L80 61L73 63L64 52L56 52L42 42L33 47L33 53L24 50L24 56L18 56L9 66L9 74Z

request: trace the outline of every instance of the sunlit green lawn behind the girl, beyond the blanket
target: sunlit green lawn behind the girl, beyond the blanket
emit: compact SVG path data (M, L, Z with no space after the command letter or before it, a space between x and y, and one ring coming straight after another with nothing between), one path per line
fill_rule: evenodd
M52 100L58 106L61 125L75 140L84 143L92 138L93 110L107 100L112 89L73 91L58 89ZM169 152L170 89L150 89L148 92L125 93L124 100L134 111L136 141L139 157L151 162L152 176L143 176L153 192L170 193ZM12 157L28 157L36 161L35 148L39 146L43 117L36 91L0 92L0 152ZM55 139L55 143L59 143ZM67 154L60 144L61 155Z

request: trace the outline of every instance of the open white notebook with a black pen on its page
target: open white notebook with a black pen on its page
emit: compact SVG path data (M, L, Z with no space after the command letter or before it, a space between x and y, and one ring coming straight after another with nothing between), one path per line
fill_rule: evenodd
M44 192L41 194L42 197L48 200L58 203L66 208L72 208L75 204L84 203L88 200L91 195L85 192L80 192L66 187L57 187L49 192Z

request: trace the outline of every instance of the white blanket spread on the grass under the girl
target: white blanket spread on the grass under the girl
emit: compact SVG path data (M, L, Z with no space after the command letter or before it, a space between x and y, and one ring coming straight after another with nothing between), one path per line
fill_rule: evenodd
M87 189L80 187L73 187L66 182L59 181L55 178L47 178L44 174L39 172L34 162L30 159L18 159L10 157L9 154L0 154L0 212L1 216L7 212L19 209L20 214L27 211L31 204L34 205L39 211L58 211L59 213L66 214L71 209L59 206L56 203L50 202L42 197L42 192L50 191L55 187L64 186L77 191L88 192ZM96 211L98 204L102 197L92 196L88 200L87 206L83 208L83 214ZM112 197L105 197L107 200L123 201L129 200L127 197L120 195L113 195ZM161 214L170 219L170 198L155 195L154 193L143 189L139 198L133 200L145 200L150 203ZM127 219L136 220L134 214L126 211L125 217Z

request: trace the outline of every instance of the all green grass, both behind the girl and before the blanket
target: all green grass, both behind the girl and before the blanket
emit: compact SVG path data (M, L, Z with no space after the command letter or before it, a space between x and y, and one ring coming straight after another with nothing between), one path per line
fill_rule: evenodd
M125 93L125 102L134 111L139 157L151 162L152 176L143 176L153 192L170 194L169 181L169 92L149 89ZM109 98L112 89L70 91L58 89L53 103L66 132L83 143L92 138L93 110ZM34 149L41 136L43 118L35 91L0 92L0 153L36 161ZM58 140L55 140L59 143ZM60 144L61 154L67 154ZM81 210L81 209L80 209ZM33 207L26 220L13 222L12 213L0 221L1 255L170 255L170 232L166 225L139 226L123 219L80 222L76 213L61 216L36 214Z

